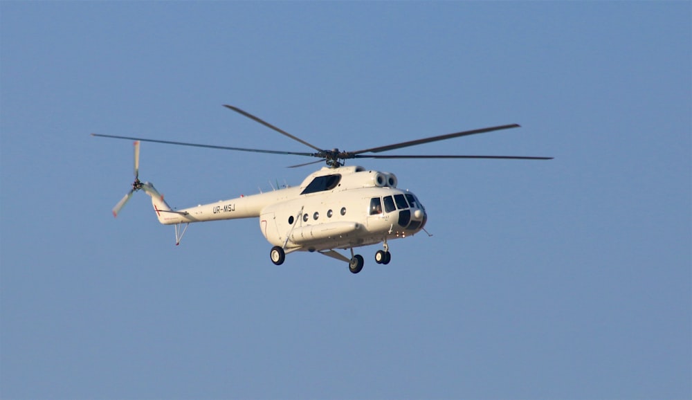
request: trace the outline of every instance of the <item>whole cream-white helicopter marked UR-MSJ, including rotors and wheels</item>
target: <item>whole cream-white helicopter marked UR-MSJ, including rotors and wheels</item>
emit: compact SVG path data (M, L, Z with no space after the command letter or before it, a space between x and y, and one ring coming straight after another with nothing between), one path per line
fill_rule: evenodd
M143 190L152 198L154 211L158 221L165 225L175 226L176 246L180 244L189 224L193 222L217 221L221 219L259 218L260 230L266 240L273 245L269 253L271 261L280 265L286 254L294 251L318 252L349 264L352 273L363 269L363 256L354 254L354 248L370 244L383 244L383 250L375 253L375 262L389 264L391 260L388 241L415 235L424 230L428 215L418 197L408 190L397 188L397 176L389 172L366 170L358 166L345 166L344 162L351 158L500 158L520 160L549 160L552 157L524 156L446 156L446 155L380 155L389 150L401 149L435 142L483 134L490 131L519 127L517 124L500 125L461 131L453 134L432 136L418 140L410 140L393 145L372 147L356 152L342 152L338 149L320 149L279 129L252 114L237 107L224 104L224 107L251 118L274 131L288 136L293 140L311 147L316 152L284 152L263 149L244 149L216 145L200 145L181 143L170 140L155 140L146 138L131 138L127 136L112 136L91 134L104 138L135 140L134 142L134 176L132 189L125 194L113 208L113 216L132 197L134 192ZM291 167L301 167L320 161L326 161L327 166L313 172L297 187L286 187L272 192L241 196L235 199L201 204L182 210L172 209L163 199L154 185L139 180L140 142L165 143L212 149L227 149L241 152L257 152L268 154L288 154L320 158ZM337 249L349 249L351 257L338 253Z

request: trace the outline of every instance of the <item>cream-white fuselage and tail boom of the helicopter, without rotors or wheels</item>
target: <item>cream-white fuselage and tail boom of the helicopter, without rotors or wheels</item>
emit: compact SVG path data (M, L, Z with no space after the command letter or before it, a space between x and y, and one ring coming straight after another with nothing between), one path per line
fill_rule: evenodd
M328 181L329 176L338 176L334 180L338 184L333 188L329 186L334 182ZM327 181L325 188L306 189L320 179ZM396 184L393 174L362 167L325 167L309 175L299 187L183 210L171 210L153 185L147 194L152 197L161 224L256 217L267 241L289 253L366 246L419 232L427 220L426 212L412 193L395 188ZM307 192L310 190L313 192ZM381 212L371 211L372 199L384 202L391 197L392 203L397 195L399 204L395 210L381 204ZM402 198L408 201L401 202Z

